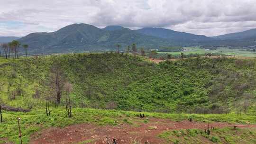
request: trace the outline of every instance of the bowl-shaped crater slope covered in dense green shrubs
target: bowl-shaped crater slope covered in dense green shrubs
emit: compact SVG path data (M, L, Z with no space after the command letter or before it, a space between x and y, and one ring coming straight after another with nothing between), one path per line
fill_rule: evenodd
M155 64L128 54L62 54L0 59L0 94L12 107L44 108L46 98L62 106L69 83L73 107L255 113L255 76L254 60L198 57Z

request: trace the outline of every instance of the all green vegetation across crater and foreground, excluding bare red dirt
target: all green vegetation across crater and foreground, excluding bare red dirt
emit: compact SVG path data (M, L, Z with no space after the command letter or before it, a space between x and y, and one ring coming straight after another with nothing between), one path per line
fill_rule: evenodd
M57 73L61 86L65 88L66 83L70 84L69 90L60 89L59 102L53 82ZM112 53L21 57L17 60L0 58L3 104L31 109L27 113L3 111L0 140L8 138L8 141L18 143L17 117L21 118L25 144L33 133L53 126L81 123L136 125L134 121L139 113L131 111L148 111L144 112L146 117L174 121L192 118L202 122L256 124L255 76L255 61L242 59L198 57L156 64L140 56ZM72 117L68 117L64 109L68 97L72 101ZM44 109L46 100L49 100L50 116L46 116ZM246 133L242 133L244 137L253 138L252 134L255 134L253 130L249 133L239 131ZM196 137L194 130L180 134L183 139L169 133L163 134L164 137L173 136L176 144ZM197 133L203 137L200 130ZM216 129L206 139L222 142L219 133ZM225 136L230 142L236 142L234 136ZM244 142L251 141L244 139Z

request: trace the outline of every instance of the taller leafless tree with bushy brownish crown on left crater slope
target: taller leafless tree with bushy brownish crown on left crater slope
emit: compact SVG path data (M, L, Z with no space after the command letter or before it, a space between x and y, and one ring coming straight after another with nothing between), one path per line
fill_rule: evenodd
M51 87L55 91L55 104L60 104L65 81L64 73L56 62L53 64L51 72Z

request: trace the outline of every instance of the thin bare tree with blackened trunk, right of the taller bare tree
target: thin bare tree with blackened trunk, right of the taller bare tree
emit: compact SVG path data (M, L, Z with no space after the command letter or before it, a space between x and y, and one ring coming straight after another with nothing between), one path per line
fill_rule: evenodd
M70 93L73 90L72 84L69 82L66 82L64 85L64 90L66 93L66 112L68 114L68 117L72 117L71 100L70 100Z

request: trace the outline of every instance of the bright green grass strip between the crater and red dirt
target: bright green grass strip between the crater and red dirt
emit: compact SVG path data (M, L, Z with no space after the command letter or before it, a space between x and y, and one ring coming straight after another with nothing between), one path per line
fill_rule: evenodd
M181 114L163 114L163 113L145 113L146 117L165 118L173 121L180 121L192 117L194 121L222 121L229 123L244 123L250 121L256 124L256 116L234 114L228 115L189 115ZM61 108L53 109L50 117L46 117L45 110L33 110L28 113L22 112L3 112L4 122L0 125L0 139L7 138L8 141L18 144L18 125L17 117L21 118L20 125L22 131L22 139L24 144L28 144L30 135L42 129L49 127L65 127L74 124L92 123L100 126L117 126L120 123L128 123L133 125L134 121L139 117L139 113L132 111L118 110L100 110L88 108L74 108L73 117L68 118L65 110ZM1 143L0 143L1 144Z

